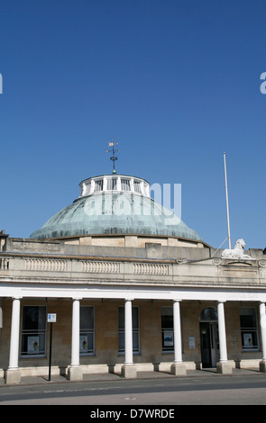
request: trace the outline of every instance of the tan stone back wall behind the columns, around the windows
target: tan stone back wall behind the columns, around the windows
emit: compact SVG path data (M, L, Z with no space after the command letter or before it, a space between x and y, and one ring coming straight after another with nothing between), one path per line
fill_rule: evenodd
M52 366L53 371L61 374L67 372L71 354L71 319L72 302L69 300L27 300L21 303L21 327L23 305L45 305L47 312L57 313L57 322L53 324ZM124 355L118 353L118 307L124 306L123 301L81 301L80 306L94 306L95 308L95 356L81 356L80 365L85 371L119 371L124 363ZM173 362L173 353L163 353L161 345L161 307L172 307L172 302L162 301L135 301L133 306L139 307L140 318L140 355L133 356L133 361L140 369L150 367L157 370L167 370ZM216 307L216 302L181 302L181 327L183 360L188 368L196 368L201 362L199 316L206 307ZM242 352L240 331L240 302L225 303L225 327L227 338L228 359L234 360L237 366L252 366L252 360L261 359L261 352ZM257 303L246 303L245 307L256 307L259 324ZM9 359L9 342L11 329L12 301L3 301L3 329L0 344L0 369L6 369ZM258 330L260 333L260 330ZM189 345L189 338L195 338L195 347ZM19 367L29 373L47 372L50 324L47 324L46 336L47 356L44 358L20 358ZM255 362L254 361L254 362ZM38 370L39 369L39 370ZM42 369L42 370L41 370Z

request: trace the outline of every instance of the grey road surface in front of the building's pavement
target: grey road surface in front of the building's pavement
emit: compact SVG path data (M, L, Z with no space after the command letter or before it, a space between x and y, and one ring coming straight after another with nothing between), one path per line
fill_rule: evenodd
M266 405L266 375L1 386L0 405Z

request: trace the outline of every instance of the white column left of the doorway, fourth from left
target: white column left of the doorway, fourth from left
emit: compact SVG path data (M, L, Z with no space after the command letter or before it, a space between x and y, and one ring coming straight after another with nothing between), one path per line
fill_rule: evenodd
M173 326L174 326L174 363L171 365L171 374L183 376L187 374L186 365L182 360L182 336L181 336L181 317L180 300L173 302Z

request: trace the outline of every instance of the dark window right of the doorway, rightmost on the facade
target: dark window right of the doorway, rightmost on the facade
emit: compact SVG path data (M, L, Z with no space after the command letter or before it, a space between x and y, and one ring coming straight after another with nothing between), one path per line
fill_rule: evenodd
M258 351L259 338L256 309L247 307L240 309L240 326L243 351Z

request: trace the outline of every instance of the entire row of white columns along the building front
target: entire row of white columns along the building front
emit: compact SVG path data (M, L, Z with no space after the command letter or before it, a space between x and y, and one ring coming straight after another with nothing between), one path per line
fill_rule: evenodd
M5 373L6 383L20 383L21 373L18 366L19 337L20 337L20 304L22 297L13 298L12 324L10 338L9 366ZM82 380L82 368L79 365L79 308L81 298L72 299L72 338L71 338L71 364L69 366L69 380ZM133 298L124 300L124 365L122 374L125 378L137 376L136 366L133 364L133 322L132 322ZM179 299L173 300L173 323L174 323L174 363L171 365L171 373L177 376L186 375L186 365L182 360L181 318ZM227 358L226 331L225 331L225 307L224 302L217 302L218 331L220 342L220 361L216 365L220 374L232 374L232 365ZM261 348L262 359L261 372L266 372L266 311L265 303L260 304L261 317Z

